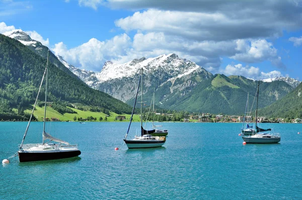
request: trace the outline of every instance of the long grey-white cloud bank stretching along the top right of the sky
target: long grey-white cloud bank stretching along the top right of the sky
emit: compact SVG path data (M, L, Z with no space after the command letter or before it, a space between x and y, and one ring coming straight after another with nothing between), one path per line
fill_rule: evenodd
M117 20L125 31L142 30L195 40L277 37L301 27L293 1L109 1L113 8L147 9ZM288 9L288 10L287 10ZM291 12L288 12L288 11ZM269 17L268 17L269 16Z

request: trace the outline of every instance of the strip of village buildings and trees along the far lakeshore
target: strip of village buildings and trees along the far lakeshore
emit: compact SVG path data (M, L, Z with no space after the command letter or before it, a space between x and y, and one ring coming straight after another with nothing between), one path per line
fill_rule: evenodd
M114 120L109 120L110 118L114 118ZM143 115L144 120L146 120L146 115ZM139 116L140 119L140 116ZM100 117L99 119L94 118L92 116L87 117L87 118L73 118L73 121L91 121L91 122L125 122L129 121L130 119L127 118L126 116L118 115L118 116L110 116L106 115L105 118L103 119ZM15 120L14 120L15 121ZM42 120L43 121L43 120ZM52 122L61 122L60 119L57 118L46 118L46 121L52 121ZM138 120L139 121L139 120ZM155 121L158 122L185 122L185 123L190 123L190 122L210 122L210 123L242 123L244 121L250 121L250 122L255 122L255 117L244 117L244 116L228 116L228 115L211 115L209 113L202 113L200 115L196 115L194 113L191 114L165 114L165 113L155 113ZM302 123L302 119L296 118L296 119L277 119L277 118L266 118L266 117L259 117L257 118L258 123Z

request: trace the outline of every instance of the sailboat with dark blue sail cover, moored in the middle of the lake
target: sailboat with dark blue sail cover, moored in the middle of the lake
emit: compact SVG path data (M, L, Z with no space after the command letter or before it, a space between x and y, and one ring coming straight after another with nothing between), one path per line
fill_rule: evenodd
M130 118L130 122L129 122L129 127L128 127L128 131L126 133L124 142L127 145L127 147L129 149L134 149L134 148L152 148L152 147L161 147L165 144L166 142L166 137L158 137L158 136L153 136L151 134L155 133L155 130L150 130L147 131L145 129L142 128L142 88L143 88L143 69L141 68L141 76L139 78L138 81L138 87L137 87L137 91L136 91L136 96L135 96L135 101L134 101L134 106L133 106L133 110L132 110L132 114L131 114L131 118ZM137 94L139 91L139 85L141 82L141 102L140 102L140 136L135 136L134 139L132 140L127 140L127 136L129 133L129 129L131 126L131 122L132 122L132 118L133 118L133 113L134 113L134 109L135 109L135 104L137 101Z

